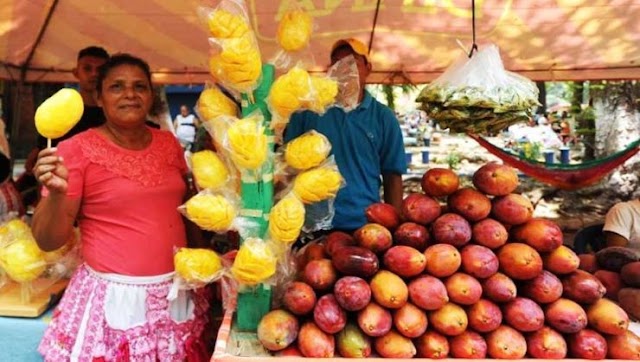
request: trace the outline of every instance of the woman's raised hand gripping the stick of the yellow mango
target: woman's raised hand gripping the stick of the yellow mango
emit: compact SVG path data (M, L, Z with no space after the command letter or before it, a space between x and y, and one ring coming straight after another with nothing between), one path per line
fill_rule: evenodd
M56 155L57 148L45 148L38 153L38 160L33 167L33 174L50 193L65 195L69 171L64 166L62 157Z

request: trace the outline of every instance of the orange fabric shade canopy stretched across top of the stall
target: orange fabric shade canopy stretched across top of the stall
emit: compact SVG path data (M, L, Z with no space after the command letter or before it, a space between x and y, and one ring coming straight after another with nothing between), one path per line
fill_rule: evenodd
M472 44L471 0L247 0L263 60L293 6L316 22L315 70L331 45L371 45L372 83L423 83ZM0 78L73 81L88 45L146 59L159 83L211 80L208 31L185 0L0 0ZM640 0L476 0L477 44L496 44L505 67L533 80L640 78Z

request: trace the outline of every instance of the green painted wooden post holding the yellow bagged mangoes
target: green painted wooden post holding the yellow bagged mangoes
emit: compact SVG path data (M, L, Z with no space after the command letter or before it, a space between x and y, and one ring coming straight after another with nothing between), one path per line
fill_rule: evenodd
M256 109L264 116L265 134L269 139L269 149L273 150L273 130L270 127L271 113L267 107L267 96L274 81L275 69L273 65L262 66L262 81L253 92L254 102L242 94L242 116L248 116ZM268 228L268 217L273 206L273 157L264 165L262 179L256 180L247 175L242 176L240 195L242 197L242 215L259 225L259 236L265 238ZM241 241L242 242L242 241ZM251 290L238 293L236 311L236 327L240 331L254 332L262 316L271 309L271 287L260 284Z

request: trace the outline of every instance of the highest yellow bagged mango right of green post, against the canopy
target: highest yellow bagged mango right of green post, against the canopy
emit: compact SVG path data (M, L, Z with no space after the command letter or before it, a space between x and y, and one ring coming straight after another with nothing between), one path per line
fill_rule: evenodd
M313 19L302 10L287 11L278 24L276 40L288 52L298 51L309 45L313 31Z

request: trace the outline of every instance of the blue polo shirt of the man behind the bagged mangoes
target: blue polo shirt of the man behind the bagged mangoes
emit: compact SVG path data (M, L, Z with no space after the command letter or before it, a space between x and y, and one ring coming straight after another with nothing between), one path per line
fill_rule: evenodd
M331 153L346 181L335 200L333 227L357 229L367 222L367 206L380 201L381 175L402 175L407 169L398 120L391 109L365 91L362 103L347 113L339 107L321 116L310 111L295 113L284 140L312 129L331 142Z

